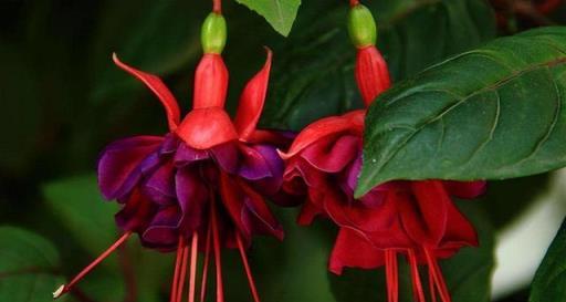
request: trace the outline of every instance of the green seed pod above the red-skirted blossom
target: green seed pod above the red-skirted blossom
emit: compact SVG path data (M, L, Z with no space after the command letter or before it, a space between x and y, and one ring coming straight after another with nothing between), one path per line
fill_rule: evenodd
M357 4L349 10L348 31L356 48L366 48L376 44L377 25L368 8Z

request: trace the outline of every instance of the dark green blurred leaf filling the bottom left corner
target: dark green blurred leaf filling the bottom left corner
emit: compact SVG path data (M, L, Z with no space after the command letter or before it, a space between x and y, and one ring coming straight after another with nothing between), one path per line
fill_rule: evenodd
M32 232L0 227L0 301L50 302L62 282L51 242Z

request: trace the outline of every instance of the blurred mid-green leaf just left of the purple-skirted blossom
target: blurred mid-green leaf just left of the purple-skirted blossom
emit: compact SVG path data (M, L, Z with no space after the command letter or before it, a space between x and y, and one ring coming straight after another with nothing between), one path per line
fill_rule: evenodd
M117 239L114 214L118 206L102 198L96 176L77 176L48 184L43 195L53 212L92 256L98 256Z

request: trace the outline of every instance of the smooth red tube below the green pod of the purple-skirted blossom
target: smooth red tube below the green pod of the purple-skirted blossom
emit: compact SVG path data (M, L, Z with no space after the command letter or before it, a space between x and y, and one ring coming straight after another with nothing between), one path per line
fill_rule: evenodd
M206 53L195 73L192 108L224 106L228 90L228 69L220 54Z

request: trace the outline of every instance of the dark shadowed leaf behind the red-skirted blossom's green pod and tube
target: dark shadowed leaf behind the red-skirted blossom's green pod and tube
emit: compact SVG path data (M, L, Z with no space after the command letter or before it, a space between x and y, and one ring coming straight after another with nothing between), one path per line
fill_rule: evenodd
M347 6L303 3L295 31L275 48L273 81L262 124L301 129L319 117L361 106L354 81L355 48ZM395 81L493 38L490 7L480 0L368 1L378 48ZM321 14L324 11L324 14Z

